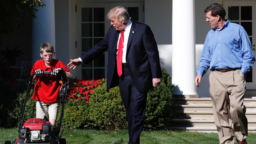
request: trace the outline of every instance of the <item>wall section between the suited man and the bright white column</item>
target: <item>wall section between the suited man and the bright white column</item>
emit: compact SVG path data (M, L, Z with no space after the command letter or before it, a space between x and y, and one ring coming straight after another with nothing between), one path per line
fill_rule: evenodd
M145 24L157 41L160 64L172 72L172 1L145 0Z

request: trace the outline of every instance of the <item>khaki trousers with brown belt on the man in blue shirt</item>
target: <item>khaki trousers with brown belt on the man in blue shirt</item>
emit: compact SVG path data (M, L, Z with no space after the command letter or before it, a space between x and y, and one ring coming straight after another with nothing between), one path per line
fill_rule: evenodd
M219 143L235 143L248 135L244 106L245 75L240 69L229 72L212 71L209 75L210 95ZM233 127L232 127L233 123Z

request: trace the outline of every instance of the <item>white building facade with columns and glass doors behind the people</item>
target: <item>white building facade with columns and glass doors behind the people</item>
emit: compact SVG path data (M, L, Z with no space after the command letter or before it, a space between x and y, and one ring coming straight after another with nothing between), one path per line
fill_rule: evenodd
M111 8L119 5L127 7L133 20L150 26L158 44L161 67L171 75L176 95L210 97L209 70L199 88L194 81L204 40L211 29L204 14L208 5L223 4L227 12L225 18L244 26L255 52L256 29L253 26L256 23L256 1L45 0L43 3L46 6L38 9L37 19L33 19L32 23L32 63L40 59L39 47L44 42L53 44L55 58L64 64L80 57L105 37L111 26L106 15ZM251 18L244 15L251 15ZM78 79L106 78L107 59L108 53L103 53L90 64L72 70L72 74ZM248 97L255 94L254 67L246 82Z

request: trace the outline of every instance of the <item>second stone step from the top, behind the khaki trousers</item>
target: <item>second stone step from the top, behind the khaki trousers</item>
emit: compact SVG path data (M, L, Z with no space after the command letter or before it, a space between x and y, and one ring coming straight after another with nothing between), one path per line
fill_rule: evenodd
M246 112L256 112L256 105L245 105ZM176 105L176 112L182 111L212 111L212 105Z

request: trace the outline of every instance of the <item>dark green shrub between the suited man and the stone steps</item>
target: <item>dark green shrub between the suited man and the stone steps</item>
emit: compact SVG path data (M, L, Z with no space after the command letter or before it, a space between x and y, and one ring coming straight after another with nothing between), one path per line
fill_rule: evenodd
M171 77L165 69L162 75L160 85L148 92L145 130L163 129L175 115Z

